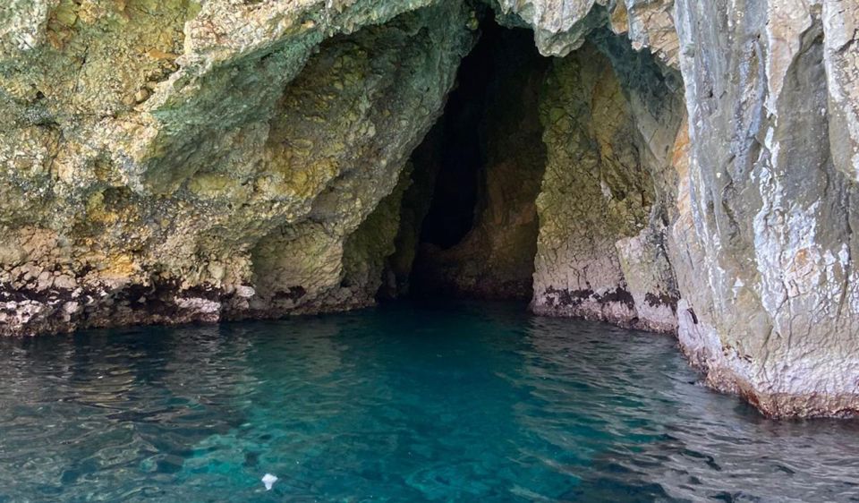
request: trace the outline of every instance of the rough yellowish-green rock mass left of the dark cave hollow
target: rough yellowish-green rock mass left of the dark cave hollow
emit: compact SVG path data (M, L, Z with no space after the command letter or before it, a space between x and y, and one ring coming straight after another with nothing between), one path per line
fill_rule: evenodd
M420 6L21 4L0 62L0 331L366 305L356 258L394 232L350 237L472 45L470 9Z

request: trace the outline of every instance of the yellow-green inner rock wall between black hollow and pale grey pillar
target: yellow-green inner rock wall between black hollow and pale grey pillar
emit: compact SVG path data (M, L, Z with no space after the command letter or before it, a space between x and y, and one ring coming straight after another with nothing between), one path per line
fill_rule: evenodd
M666 198L653 180L670 166L665 138L676 134L677 109L664 104L672 93L659 69L617 52L610 36L597 43L603 52L585 46L556 61L540 104L549 161L537 200L532 309L671 332L677 295L661 238ZM632 73L637 81L622 85ZM642 102L648 93L658 95L649 97L652 110Z

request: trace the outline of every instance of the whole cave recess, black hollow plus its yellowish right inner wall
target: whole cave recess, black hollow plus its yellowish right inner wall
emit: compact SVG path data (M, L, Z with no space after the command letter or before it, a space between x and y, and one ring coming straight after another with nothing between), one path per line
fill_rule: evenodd
M557 57L491 15L480 29L405 166L378 297L527 300L676 330L679 75L607 26Z

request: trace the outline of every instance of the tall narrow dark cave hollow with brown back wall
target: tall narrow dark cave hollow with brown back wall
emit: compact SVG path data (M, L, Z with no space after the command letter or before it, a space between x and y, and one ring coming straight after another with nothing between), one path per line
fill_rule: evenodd
M409 294L531 298L546 158L538 105L550 61L532 30L481 23L444 114L412 155L404 205L420 230Z

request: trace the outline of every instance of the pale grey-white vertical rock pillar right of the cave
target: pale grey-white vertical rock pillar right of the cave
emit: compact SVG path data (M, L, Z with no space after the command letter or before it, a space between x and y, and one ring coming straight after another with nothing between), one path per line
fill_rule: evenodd
M833 54L826 33L855 13L843 6L677 3L690 114L672 246L680 341L710 384L772 415L859 406L853 146L830 128L848 120L830 106L852 89L838 69L855 48ZM845 142L830 148L830 132Z

